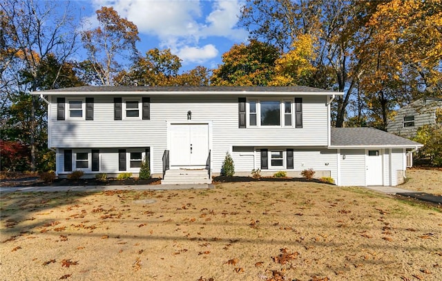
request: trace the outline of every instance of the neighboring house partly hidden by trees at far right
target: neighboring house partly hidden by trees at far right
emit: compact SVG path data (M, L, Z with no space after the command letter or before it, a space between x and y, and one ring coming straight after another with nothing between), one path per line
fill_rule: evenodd
M442 125L442 99L419 99L398 109L387 124L387 132L412 138L417 129L425 125Z

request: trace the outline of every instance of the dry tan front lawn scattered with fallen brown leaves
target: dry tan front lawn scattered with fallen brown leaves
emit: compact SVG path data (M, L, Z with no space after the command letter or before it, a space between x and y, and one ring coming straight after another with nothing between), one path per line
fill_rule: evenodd
M13 193L1 196L0 231L1 280L442 276L438 209L327 184Z

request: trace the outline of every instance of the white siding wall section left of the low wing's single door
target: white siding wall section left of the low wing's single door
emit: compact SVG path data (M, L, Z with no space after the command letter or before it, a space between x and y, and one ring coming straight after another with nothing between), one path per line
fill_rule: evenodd
M340 151L340 185L365 186L365 150Z

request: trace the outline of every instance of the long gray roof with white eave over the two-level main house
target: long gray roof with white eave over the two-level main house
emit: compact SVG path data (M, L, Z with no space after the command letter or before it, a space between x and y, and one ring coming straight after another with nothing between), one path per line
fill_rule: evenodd
M58 94L134 94L137 92L149 92L150 94L164 93L164 94L193 94L193 95L206 95L208 93L216 93L222 95L233 95L238 93L253 93L253 94L270 94L282 93L287 95L290 93L309 93L316 95L343 95L340 92L334 92L332 90L324 90L320 88L312 88L307 86L290 86L290 87L276 87L276 86L80 86L73 88L62 88L55 90L43 90L34 93L35 95L54 95Z

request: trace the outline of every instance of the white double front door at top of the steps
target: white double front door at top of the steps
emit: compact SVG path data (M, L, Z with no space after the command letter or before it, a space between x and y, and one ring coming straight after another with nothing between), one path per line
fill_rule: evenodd
M204 168L209 156L209 124L171 124L171 168Z

